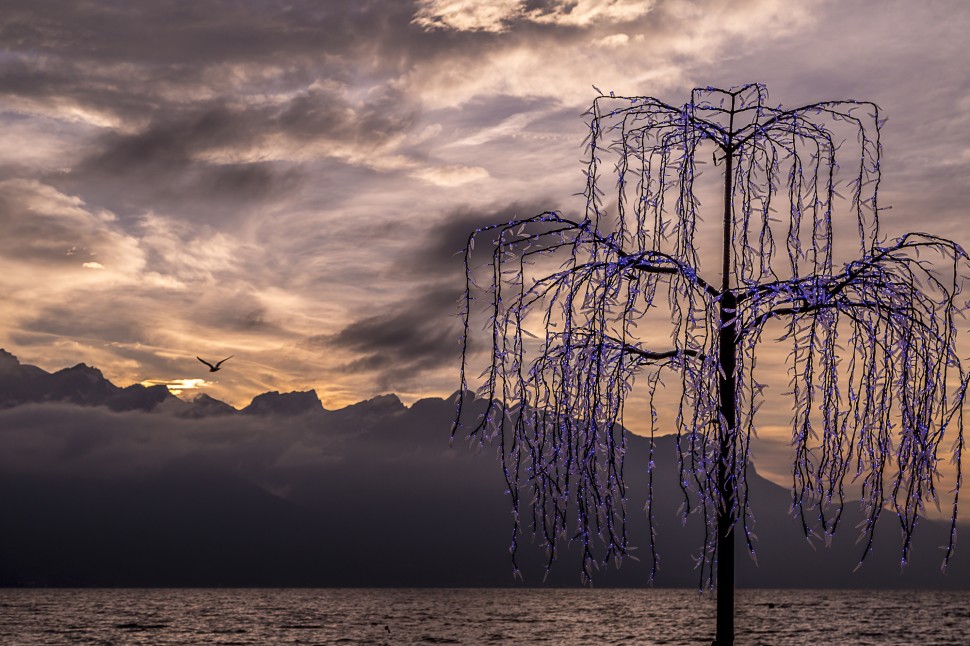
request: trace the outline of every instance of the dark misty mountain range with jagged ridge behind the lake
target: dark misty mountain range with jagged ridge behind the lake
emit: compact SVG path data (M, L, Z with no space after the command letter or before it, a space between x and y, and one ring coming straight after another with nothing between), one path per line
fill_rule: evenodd
M237 410L164 386L118 387L84 364L48 373L0 351L0 585L578 585L576 546L543 582L528 536L524 580L513 578L496 450L450 446L454 410L453 398L405 406L394 395L327 410L313 391L264 393ZM689 587L703 528L677 515L674 442L655 439L655 584ZM645 546L646 483L634 474L646 472L649 440L631 434L628 447L629 533ZM739 586L970 586L959 548L940 572L946 523L923 519L900 568L885 514L856 570L856 505L816 550L789 517L788 490L754 469L749 480L757 563L739 546ZM640 556L594 584L646 585Z

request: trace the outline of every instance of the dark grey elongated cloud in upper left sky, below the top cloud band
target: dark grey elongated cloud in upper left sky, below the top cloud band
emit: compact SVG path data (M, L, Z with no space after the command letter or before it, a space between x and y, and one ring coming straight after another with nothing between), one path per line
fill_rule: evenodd
M218 221L295 198L306 159L379 164L388 141L412 125L409 102L392 92L362 105L323 90L273 106L217 101L160 111L133 133L109 132L49 181L122 214L163 209Z

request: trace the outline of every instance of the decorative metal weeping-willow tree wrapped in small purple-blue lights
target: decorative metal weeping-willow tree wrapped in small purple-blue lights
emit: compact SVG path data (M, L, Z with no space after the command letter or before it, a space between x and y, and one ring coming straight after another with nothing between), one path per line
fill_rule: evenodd
M717 644L733 643L736 533L754 553L746 474L763 400L755 351L770 321L780 321L779 341L791 348L792 513L807 537L817 528L831 538L846 482L855 481L866 516L860 563L887 506L899 518L905 563L952 438L945 566L961 484L968 376L954 317L966 309L958 297L967 255L933 235L880 237L875 104L792 110L767 99L762 85L696 89L681 107L600 96L588 113L586 217L546 212L485 227L465 251L462 392L470 324L482 316L491 360L478 393L488 403L468 431L472 441L499 443L513 563L526 492L548 565L570 540L582 545L584 580L591 567L628 555L624 405L640 377L655 429L661 371L677 371L684 520L704 519L698 565L702 585L717 588ZM712 152L723 168L719 263L699 251L714 237L702 225L697 182ZM601 157L609 155L617 192L606 204ZM776 219L776 209L787 217ZM836 230L850 218L854 226ZM490 253L480 267L476 240ZM717 264L720 280L702 277ZM490 278L480 286L482 267ZM658 321L669 321L669 341L656 335ZM460 419L462 398L458 406ZM652 488L653 527L651 500Z

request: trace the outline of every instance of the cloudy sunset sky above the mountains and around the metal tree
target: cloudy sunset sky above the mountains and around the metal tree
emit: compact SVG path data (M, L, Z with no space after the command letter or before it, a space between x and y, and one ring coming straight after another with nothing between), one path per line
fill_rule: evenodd
M237 406L453 392L454 254L577 212L594 85L874 101L885 231L967 245L968 32L961 0L5 0L0 345Z

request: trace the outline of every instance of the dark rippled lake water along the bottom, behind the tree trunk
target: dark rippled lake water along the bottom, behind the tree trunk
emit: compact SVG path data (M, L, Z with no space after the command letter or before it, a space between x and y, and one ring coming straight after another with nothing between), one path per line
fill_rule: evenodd
M739 644L970 644L970 593L740 590ZM4 644L709 644L690 590L0 589Z

